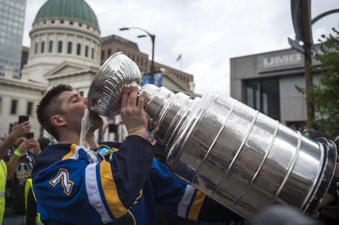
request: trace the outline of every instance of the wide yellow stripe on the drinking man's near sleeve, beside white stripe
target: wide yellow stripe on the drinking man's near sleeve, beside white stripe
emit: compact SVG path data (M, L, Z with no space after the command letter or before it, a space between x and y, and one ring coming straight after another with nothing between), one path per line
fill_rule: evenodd
M107 205L114 218L122 217L127 212L127 209L119 199L117 187L112 176L111 165L107 161L100 163L100 179Z

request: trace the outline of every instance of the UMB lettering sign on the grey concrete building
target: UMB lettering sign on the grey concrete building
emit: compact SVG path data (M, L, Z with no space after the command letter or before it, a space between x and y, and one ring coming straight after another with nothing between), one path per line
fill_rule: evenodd
M299 64L302 62L302 57L300 53L294 53L289 55L282 56L273 56L267 57L263 59L263 67L271 68L271 67L281 67L292 64Z

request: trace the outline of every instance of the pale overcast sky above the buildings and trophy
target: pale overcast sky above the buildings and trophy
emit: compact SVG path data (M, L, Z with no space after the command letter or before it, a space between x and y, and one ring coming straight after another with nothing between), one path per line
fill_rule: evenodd
M46 0L27 0L23 45ZM230 58L290 48L294 36L291 0L86 0L95 12L101 36L136 42L152 57L150 38L137 38L141 27L156 35L155 61L194 75L195 92L230 94ZM339 0L312 0L311 18L339 8ZM312 26L317 43L339 26L339 13ZM181 61L176 61L181 54Z

